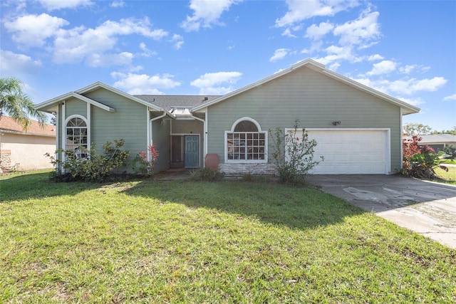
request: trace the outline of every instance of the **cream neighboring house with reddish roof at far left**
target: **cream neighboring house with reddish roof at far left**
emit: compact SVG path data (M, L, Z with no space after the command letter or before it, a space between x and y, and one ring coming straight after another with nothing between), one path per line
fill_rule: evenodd
M0 117L0 167L2 169L34 170L52 168L51 155L56 152L56 127L41 127L31 121L26 131L13 118Z

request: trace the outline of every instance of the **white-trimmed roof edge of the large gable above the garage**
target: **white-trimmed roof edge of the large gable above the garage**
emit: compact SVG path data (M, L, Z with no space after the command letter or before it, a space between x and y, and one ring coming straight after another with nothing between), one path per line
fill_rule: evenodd
M373 96L375 96L377 98L380 98L380 100L384 100L385 102L388 102L388 103L393 103L394 105L397 105L398 107L401 108L403 115L420 112L420 109L416 108L413 105L409 105L408 103L405 103L402 100L398 100L397 98L393 98L393 97L391 97L389 95L386 95L385 93L381 93L378 90L374 90L373 88L369 88L366 85L358 83L355 80L351 80L350 78L346 78L343 75L340 75L340 74L335 73L335 72L333 72L331 70L328 70L328 69L326 69L325 65L323 65L321 63L318 63L318 62L316 62L316 61L314 61L314 60L312 60L310 58L308 58L308 59L306 59L304 61L301 61L299 63L296 63L294 65L291 65L290 68L287 68L285 70L281 70L278 73L274 73L274 74L272 74L272 75L270 75L270 76L268 76L268 77L266 77L264 79L261 79L261 80L257 81L256 83L252 83L250 85L247 85L244 88L240 88L238 90L234 90L231 93L228 93L226 95L220 96L219 98L215 98L214 100L210 100L207 103L203 103L201 105L197 105L194 108L192 108L192 112L196 112L198 110L202 110L202 109L207 108L207 107L209 107L211 105L214 105L216 103L220 103L223 100L227 100L229 98L232 98L233 96L239 95L241 93L244 93L245 91L251 90L252 88L257 88L259 85L263 85L264 83L268 83L269 81L272 81L272 80L274 80L276 78L279 78L279 77L281 77L283 75L286 75L288 73L291 73L292 71L294 71L294 70L296 70L298 68L302 68L304 66L306 68L311 68L312 70L315 70L316 72L321 73L323 75L326 75L326 76L328 76L330 78L338 80L341 83L345 83L346 85L350 85L353 88L357 88L358 90L361 90L364 93L368 93L368 94L373 95Z

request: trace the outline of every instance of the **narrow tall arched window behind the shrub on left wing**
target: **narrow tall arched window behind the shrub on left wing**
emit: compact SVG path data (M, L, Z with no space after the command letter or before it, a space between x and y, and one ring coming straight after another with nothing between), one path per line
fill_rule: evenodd
M76 157L87 157L87 123L81 117L66 122L66 150L73 150Z

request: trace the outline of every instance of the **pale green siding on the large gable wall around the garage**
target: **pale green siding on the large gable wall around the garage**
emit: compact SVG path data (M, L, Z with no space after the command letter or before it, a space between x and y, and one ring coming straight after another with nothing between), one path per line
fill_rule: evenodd
M400 169L400 108L317 73L299 68L280 78L212 105L207 110L208 153L223 162L224 131L241 117L252 117L262 130L306 128L383 128L391 130L391 172ZM337 127L333 121L341 121Z

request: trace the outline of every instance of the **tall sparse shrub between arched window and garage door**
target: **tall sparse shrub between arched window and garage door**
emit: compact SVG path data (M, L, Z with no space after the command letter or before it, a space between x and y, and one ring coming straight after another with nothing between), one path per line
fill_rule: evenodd
M302 138L297 136L302 130ZM279 173L279 182L299 184L305 181L306 175L317 164L323 161L314 161L316 140L309 140L305 129L299 129L299 120L294 122L294 130L284 134L281 128L276 127L273 133L269 130L272 139L270 162L276 166Z

